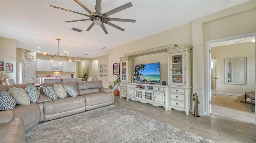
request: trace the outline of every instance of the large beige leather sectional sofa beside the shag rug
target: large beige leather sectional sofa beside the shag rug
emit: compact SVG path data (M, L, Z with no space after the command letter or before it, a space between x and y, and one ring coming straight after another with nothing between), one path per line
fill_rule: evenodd
M64 116L91 110L114 102L112 89L103 88L102 81L72 81L64 83L42 83L41 86L54 84L72 86L78 90L79 96L67 96L52 100L40 89L40 97L30 105L16 105L14 109L0 112L0 142L21 143L25 141L24 133L40 121L48 121ZM28 84L3 85L0 92L9 87L26 88Z

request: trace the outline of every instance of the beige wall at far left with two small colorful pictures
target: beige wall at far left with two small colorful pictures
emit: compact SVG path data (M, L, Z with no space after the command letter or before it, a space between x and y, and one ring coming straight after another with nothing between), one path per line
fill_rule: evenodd
M16 40L14 39L8 39L8 38L3 38L1 37L1 43L0 43L0 61L4 62L4 71L6 71L6 63L13 64L13 69L12 72L7 72L5 74L5 78L12 78L12 75L15 76L15 78L12 78L15 83L16 82Z

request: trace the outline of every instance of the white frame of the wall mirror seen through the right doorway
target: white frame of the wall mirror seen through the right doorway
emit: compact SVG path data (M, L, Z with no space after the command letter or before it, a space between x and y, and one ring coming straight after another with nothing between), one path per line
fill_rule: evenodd
M232 60L244 60L244 82L228 82L228 62ZM247 57L225 59L225 84L247 85Z

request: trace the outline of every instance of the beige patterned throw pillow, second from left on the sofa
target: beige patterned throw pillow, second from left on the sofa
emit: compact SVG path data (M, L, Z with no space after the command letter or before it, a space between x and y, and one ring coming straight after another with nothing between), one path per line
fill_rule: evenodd
M30 104L30 98L26 91L22 88L11 88L10 94L15 99L16 103L19 105L29 105Z

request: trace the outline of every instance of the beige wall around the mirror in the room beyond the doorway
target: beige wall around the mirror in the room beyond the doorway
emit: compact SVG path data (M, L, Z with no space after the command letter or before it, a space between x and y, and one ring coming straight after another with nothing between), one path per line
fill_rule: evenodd
M233 45L212 47L211 57L216 58L216 68L218 80L216 80L216 89L219 94L244 94L252 91L255 87L255 55L254 43L246 42ZM225 84L225 58L247 57L247 85ZM237 74L236 74L237 75ZM243 86L244 89L241 89Z

